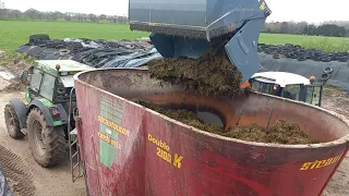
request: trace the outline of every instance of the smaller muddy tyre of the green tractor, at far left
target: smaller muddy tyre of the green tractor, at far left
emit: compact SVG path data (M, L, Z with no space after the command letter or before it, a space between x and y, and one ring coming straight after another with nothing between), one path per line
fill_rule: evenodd
M8 103L4 107L4 123L8 128L9 135L14 139L21 139L25 135L21 132L20 119L15 113L14 107Z

